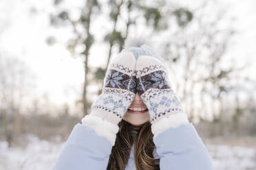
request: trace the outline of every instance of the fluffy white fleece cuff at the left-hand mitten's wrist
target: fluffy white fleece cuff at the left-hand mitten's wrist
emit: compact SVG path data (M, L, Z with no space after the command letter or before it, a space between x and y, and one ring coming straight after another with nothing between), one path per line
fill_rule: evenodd
M115 145L116 133L119 130L118 125L114 125L109 121L103 121L100 117L95 117L89 114L83 117L82 124L92 127L98 136L105 136L112 146Z

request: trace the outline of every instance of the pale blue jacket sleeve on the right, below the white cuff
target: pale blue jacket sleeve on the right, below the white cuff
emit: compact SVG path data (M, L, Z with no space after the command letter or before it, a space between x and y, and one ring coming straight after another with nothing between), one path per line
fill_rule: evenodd
M212 170L213 165L193 123L169 127L153 137L160 156L160 169Z

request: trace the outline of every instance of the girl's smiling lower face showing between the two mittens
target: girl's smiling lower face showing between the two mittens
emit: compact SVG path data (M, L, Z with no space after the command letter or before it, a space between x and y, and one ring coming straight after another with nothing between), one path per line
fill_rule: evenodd
M134 101L132 101L129 109L122 119L133 125L140 125L149 121L149 110L138 93L136 93Z

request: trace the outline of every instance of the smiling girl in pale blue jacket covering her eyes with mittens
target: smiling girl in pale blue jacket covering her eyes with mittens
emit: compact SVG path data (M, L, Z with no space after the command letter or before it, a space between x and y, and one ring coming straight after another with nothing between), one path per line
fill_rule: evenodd
M126 43L53 169L213 169L163 63L144 42Z

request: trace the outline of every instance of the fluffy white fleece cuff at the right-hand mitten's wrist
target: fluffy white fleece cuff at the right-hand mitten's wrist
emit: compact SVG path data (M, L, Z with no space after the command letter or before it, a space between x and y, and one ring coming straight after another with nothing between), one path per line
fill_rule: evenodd
M189 123L188 117L185 113L170 114L168 117L163 117L151 125L153 137L156 138L158 134L169 129L169 127L178 127L183 123Z

